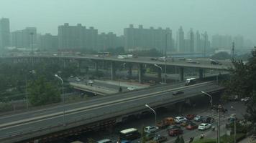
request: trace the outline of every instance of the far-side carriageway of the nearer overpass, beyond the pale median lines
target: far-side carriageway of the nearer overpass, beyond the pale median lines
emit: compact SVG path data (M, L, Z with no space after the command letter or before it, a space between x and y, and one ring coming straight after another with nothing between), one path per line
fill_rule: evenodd
M83 107L84 104L89 106L89 105L93 105L93 104L99 104L101 102L109 102L109 101L114 100L114 99L131 97L131 96L134 96L134 94L136 94L136 95L138 95L138 94L147 94L147 93L163 91L165 89L183 87L183 86L184 86L184 84L180 83L180 84L177 84L177 85L147 88L147 89L142 89L142 90L139 90L139 91L134 90L132 92L122 93L122 96L120 96L119 94L116 94L116 95L111 95L109 97L100 97L100 98L97 98L97 99L90 99L90 100L85 101L85 102L79 102L79 103L75 103L75 104L66 104L65 109L66 110L76 109L78 107ZM22 113L22 114L14 114L14 115L9 115L9 116L4 116L4 117L0 118L0 123L4 124L4 123L8 123L8 122L19 121L21 119L27 119L27 118L31 118L31 117L37 117L39 115L42 116L42 115L52 114L52 113L61 112L61 111L63 111L63 105L60 105L58 107L51 107L51 108L47 108L47 109L40 109L40 110L36 110L36 111L33 111L33 112L25 112L25 113Z

